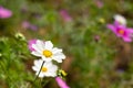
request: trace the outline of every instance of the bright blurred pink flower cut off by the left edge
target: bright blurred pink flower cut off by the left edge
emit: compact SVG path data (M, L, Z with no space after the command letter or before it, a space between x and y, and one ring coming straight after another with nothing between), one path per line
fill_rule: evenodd
M0 6L0 19L7 19L12 15L12 12L8 9L4 9L3 7Z

